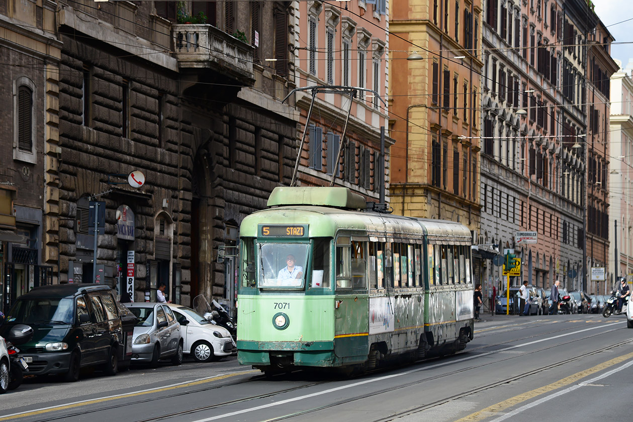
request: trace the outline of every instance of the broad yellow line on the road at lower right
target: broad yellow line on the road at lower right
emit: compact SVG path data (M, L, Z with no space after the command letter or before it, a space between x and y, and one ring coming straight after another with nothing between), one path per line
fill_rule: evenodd
M469 414L468 416L458 419L455 422L475 422L480 421L481 419L489 418L492 416L491 414L500 413L510 407L517 406L517 404L519 403L534 399L534 397L537 397L539 395L546 394L553 390L560 389L561 387L565 387L566 385L578 382L582 378L586 378L593 373L605 370L610 366L617 365L618 363L622 363L630 358L633 358L633 353L625 354L624 356L620 356L618 358L613 358L610 361L601 363L600 365L589 368L588 370L580 371L578 373L570 375L569 377L558 380L555 383L544 385L543 387L539 387L536 390L528 391L523 394L515 395L515 397L510 397L510 399L504 400L497 404L493 404L492 406L488 406L485 409L481 409L480 411Z

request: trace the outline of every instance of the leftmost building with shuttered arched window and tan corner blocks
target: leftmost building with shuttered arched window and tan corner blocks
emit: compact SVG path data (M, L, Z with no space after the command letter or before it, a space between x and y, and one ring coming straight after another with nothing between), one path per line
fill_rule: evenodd
M50 1L0 4L0 311L57 280L58 78Z

